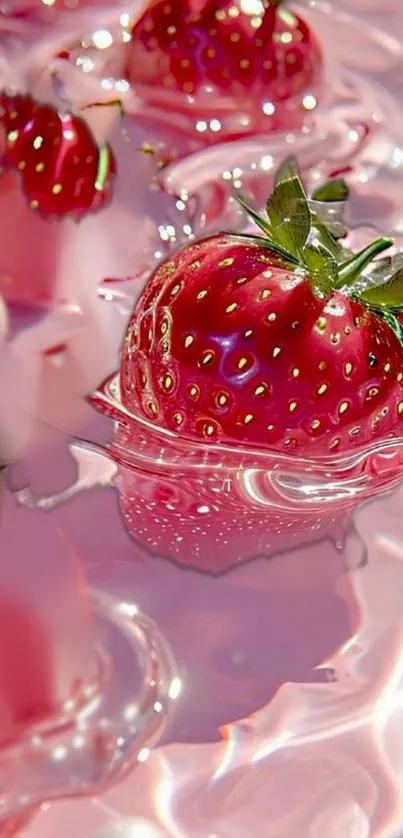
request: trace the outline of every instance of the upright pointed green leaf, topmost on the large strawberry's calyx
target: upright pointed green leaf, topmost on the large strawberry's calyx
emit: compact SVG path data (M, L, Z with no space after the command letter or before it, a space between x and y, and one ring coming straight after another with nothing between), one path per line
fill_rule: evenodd
M300 257L311 232L311 211L294 159L280 166L266 212L273 238L289 253Z

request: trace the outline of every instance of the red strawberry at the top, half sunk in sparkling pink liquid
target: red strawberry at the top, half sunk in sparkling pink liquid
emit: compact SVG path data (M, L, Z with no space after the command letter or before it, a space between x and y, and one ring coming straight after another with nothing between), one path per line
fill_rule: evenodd
M300 127L320 93L322 56L308 25L280 3L257 0L249 11L240 0L207 0L195 14L187 0L161 0L134 27L129 80L167 115L171 100L189 113L207 142Z

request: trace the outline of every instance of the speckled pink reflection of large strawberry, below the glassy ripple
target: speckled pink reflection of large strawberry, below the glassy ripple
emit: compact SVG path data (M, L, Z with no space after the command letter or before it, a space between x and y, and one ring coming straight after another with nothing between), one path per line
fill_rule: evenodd
M136 448L138 435L120 430L111 448ZM163 455L162 455L163 456ZM290 513L289 503L271 510L269 475L261 470L236 469L239 457L227 458L227 468L186 467L164 473L120 463L116 485L125 525L151 553L186 567L220 574L250 558L272 555L301 542L332 536L342 538L343 518L331 514ZM232 468L231 468L232 466ZM345 518L345 516L344 516Z

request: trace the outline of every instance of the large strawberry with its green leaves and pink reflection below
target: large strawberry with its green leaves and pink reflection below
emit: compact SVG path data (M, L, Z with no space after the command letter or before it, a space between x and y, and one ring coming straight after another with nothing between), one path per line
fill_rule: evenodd
M217 572L329 534L373 491L362 452L403 421L401 257L373 262L390 239L341 246L322 218L346 193L334 181L309 201L288 161L267 218L250 210L263 235L211 236L152 274L120 369L141 423L122 416L112 446L128 528L151 550Z

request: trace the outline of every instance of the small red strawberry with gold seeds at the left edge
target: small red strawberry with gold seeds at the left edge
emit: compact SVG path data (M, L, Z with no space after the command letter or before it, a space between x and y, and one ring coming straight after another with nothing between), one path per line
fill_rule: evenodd
M80 218L109 201L113 154L109 146L97 145L83 119L30 96L3 93L0 108L6 132L2 162L20 171L32 209Z

